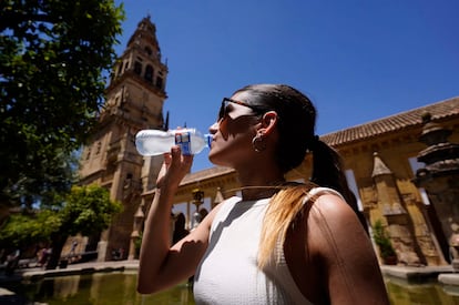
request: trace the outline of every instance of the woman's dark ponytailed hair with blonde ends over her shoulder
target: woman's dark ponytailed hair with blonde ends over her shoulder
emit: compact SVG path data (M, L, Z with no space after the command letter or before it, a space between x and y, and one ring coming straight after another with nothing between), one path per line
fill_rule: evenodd
M284 244L288 228L303 214L303 200L312 187L334 189L357 214L358 209L339 154L315 135L316 109L305 94L285 84L253 84L236 92L247 93L244 100L247 104L277 113L276 162L284 174L302 164L307 152L313 152L310 183L286 186L269 203L258 251L258 266L263 267L274 254L276 244Z

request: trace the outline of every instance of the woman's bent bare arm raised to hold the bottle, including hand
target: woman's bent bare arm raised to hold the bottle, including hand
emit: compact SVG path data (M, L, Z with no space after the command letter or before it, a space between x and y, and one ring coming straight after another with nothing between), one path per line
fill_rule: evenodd
M207 246L213 212L192 233L170 246L173 196L192 161L192 156L181 155L178 148L164 157L142 238L137 277L137 291L142 294L171 287L192 276Z

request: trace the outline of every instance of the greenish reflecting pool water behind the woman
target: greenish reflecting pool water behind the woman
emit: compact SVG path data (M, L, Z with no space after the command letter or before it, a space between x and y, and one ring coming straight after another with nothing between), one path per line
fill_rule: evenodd
M392 277L385 278L390 303L394 305L459 305L459 287L432 283L408 284ZM186 284L172 289L141 295L135 291L136 273L95 273L44 278L7 287L29 302L44 304L128 304L128 305L193 305L193 291Z

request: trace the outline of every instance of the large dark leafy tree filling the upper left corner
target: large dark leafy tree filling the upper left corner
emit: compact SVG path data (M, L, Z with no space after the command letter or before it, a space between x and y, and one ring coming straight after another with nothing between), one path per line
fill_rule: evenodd
M0 4L0 207L70 189L116 54L113 0Z

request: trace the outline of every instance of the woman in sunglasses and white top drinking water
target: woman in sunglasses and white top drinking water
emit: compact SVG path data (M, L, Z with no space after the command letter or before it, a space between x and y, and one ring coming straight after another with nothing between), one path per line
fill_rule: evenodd
M145 224L137 291L195 275L197 304L388 304L339 157L315 135L315 119L288 85L248 85L224 99L208 157L235 169L242 199L221 203L171 247L173 195L193 159L173 148ZM286 182L306 152L312 182Z

